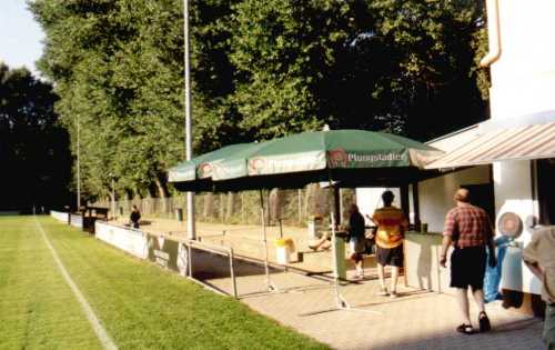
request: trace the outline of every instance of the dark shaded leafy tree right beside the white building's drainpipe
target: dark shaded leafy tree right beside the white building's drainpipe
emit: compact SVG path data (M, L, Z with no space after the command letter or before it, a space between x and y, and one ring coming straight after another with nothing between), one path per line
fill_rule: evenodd
M386 101L391 100L396 113L406 121L405 133L426 140L483 120L486 106L474 74L484 3L468 0L369 3L377 19L375 36L395 61L373 97L385 96Z

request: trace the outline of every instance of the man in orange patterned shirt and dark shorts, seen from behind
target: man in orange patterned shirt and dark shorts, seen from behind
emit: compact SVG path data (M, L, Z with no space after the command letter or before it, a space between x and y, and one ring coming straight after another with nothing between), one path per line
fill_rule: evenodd
M392 191L382 193L383 208L377 209L372 220L377 224L376 260L377 276L382 287L380 296L387 296L384 280L384 267L391 266L391 297L397 297L398 268L403 267L403 239L408 221L403 211L392 206L395 196Z

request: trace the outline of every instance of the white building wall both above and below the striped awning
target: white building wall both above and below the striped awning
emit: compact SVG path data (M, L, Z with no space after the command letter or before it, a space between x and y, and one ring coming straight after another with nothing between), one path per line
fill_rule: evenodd
M491 64L492 121L555 110L555 1L497 0L497 7L501 56ZM488 21L488 26L492 24ZM531 238L532 228L527 222L537 214L531 161L495 162L493 177L497 218L512 211L525 222L524 232L517 240L522 248ZM524 267L521 254L518 247L507 254L503 262L502 287L539 293L539 282Z

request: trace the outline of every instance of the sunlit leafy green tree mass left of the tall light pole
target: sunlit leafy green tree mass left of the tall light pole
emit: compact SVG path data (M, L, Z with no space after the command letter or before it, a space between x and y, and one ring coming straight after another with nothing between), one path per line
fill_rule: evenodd
M84 192L108 194L113 176L121 191L158 183L165 194L163 173L182 139L175 133L183 119L180 9L174 1L31 6L48 38L40 67L57 82L73 152L80 123Z

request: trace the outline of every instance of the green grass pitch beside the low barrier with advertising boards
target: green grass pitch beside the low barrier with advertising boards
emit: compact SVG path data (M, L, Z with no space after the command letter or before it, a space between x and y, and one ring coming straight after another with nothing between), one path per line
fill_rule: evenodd
M39 218L120 349L326 349L230 298ZM0 218L0 349L101 349L32 217Z

